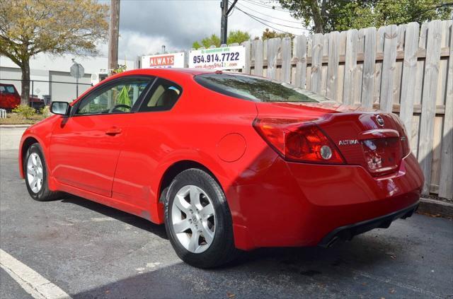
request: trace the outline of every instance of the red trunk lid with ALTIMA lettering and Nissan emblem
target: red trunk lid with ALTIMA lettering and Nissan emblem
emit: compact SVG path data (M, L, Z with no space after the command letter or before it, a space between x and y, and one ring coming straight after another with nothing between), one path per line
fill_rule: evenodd
M257 103L258 117L314 122L333 141L349 165L372 175L396 172L409 153L407 136L396 115L337 102Z

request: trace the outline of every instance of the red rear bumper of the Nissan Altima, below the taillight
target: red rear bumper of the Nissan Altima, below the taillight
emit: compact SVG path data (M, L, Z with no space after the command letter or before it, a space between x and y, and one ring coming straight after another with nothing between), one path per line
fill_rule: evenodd
M360 223L371 221L369 229L386 225L391 218L373 221L414 210L422 186L423 174L412 154L402 160L398 172L386 177L372 177L359 165L289 163L277 158L264 178L231 187L226 197L236 247L251 250L323 245L338 228L350 227L343 234L356 235L367 231L367 225Z

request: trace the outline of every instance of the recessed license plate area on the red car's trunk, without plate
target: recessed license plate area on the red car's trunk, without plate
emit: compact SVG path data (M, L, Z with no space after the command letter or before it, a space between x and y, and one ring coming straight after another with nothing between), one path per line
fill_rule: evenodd
M365 164L373 175L386 175L399 168L402 158L398 137L362 140Z

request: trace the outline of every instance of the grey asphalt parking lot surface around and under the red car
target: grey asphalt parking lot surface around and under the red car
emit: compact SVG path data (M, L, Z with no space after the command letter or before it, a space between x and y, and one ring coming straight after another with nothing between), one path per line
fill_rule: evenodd
M196 269L163 225L78 197L30 199L17 167L22 131L0 129L0 248L72 298L453 298L447 219L416 214L329 249L261 249ZM20 277L0 269L0 281L0 298L30 298Z

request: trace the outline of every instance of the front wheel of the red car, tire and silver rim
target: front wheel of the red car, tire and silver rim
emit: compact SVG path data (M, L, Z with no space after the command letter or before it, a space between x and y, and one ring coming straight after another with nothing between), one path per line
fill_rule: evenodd
M33 143L28 148L23 159L23 173L25 175L25 185L31 198L36 201L50 201L59 197L59 192L52 192L49 189L47 164L39 143Z

